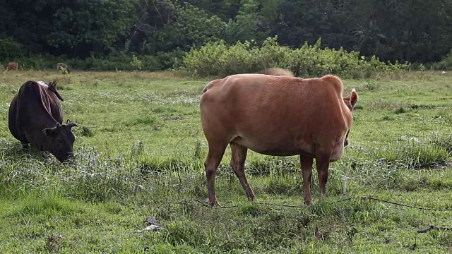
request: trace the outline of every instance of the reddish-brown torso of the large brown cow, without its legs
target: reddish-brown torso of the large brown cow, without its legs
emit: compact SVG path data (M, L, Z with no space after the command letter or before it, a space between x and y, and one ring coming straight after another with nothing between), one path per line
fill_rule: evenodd
M201 121L208 140L224 135L266 155L313 154L316 145L343 146L352 116L342 90L332 75L231 75L206 85Z

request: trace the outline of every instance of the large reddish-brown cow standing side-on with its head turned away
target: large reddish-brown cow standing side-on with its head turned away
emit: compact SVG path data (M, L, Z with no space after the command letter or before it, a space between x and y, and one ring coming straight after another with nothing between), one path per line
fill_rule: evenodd
M215 173L231 144L231 166L249 200L244 162L251 149L263 155L299 155L304 202L311 204L314 158L320 192L325 193L330 162L340 159L348 144L357 92L342 97L342 81L323 78L239 74L206 85L201 95L201 123L208 141L205 162L209 205L219 205Z

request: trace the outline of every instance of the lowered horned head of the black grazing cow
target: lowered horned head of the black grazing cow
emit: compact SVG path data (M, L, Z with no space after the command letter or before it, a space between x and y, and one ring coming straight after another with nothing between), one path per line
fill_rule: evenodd
M57 157L60 162L66 162L73 158L73 143L76 140L71 128L77 126L76 123L67 121L66 124L57 123L55 127L44 128L42 133L48 137L47 150Z

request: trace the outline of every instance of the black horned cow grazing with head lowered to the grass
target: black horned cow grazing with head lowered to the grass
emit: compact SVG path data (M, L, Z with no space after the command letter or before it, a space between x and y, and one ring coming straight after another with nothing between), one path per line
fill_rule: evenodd
M73 157L75 138L71 128L77 125L69 120L61 124L59 99L63 100L55 82L25 82L9 107L8 127L24 148L30 144L66 162Z

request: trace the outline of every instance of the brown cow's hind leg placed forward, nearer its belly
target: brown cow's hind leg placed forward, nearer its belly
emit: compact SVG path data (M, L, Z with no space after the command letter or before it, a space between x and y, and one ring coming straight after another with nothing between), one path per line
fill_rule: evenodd
M239 178L240 184L242 184L248 199L254 200L254 192L253 189L251 189L251 186L249 186L248 181L246 181L244 169L247 152L248 148L242 145L237 145L236 143L231 143L231 167L234 169L235 174Z

